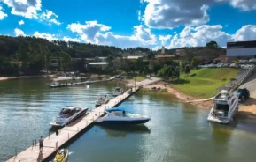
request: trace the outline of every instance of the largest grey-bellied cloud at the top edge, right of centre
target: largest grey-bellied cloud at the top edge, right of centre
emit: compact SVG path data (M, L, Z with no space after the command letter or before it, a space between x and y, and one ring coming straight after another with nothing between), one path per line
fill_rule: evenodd
M152 28L202 25L209 21L208 5L213 0L144 0L144 22Z

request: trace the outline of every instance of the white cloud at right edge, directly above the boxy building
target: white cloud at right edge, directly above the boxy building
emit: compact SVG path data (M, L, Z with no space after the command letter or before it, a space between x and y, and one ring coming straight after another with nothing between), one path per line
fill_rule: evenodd
M237 33L234 35L234 40L243 41L243 40L255 40L256 38L256 26L246 25L240 28Z

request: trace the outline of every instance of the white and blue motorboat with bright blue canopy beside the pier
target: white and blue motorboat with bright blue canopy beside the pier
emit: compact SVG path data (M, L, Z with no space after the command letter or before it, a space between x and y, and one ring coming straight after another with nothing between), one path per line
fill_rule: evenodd
M106 110L106 115L97 119L99 124L144 124L151 120L150 117L141 114L131 114L122 108L111 108Z

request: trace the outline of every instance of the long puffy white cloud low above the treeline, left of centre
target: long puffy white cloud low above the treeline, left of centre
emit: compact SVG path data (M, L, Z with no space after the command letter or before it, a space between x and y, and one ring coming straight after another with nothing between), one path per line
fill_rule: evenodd
M72 23L67 26L73 33L77 33L81 40L90 43L130 48L137 46L151 46L156 43L156 36L149 28L134 26L134 33L129 36L112 33L110 26L98 24L97 21L86 21L85 24Z

